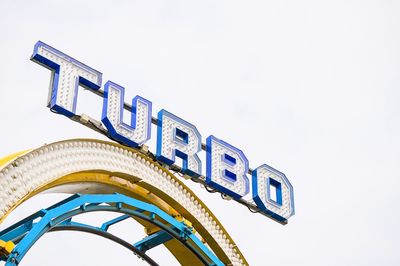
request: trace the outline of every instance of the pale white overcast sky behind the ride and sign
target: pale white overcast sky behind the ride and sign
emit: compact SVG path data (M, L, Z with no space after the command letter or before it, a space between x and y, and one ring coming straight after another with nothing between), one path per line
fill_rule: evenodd
M45 107L49 71L29 61L42 40L126 87L126 101L139 94L153 115L164 108L288 176L287 226L201 194L251 265L400 265L399 14L382 0L2 0L0 156L101 138ZM86 97L78 109L99 118ZM135 261L53 233L21 265Z

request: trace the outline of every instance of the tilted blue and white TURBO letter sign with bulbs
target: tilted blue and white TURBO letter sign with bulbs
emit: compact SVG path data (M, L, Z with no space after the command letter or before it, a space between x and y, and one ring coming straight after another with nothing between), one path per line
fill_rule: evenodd
M280 171L267 164L250 170L244 152L222 138L209 135L203 144L202 135L190 122L164 109L158 111L157 118L153 117L148 99L136 96L129 106L124 102L123 86L107 81L102 90L102 73L41 41L34 47L32 60L52 71L48 106L53 112L90 124L109 138L137 149L146 149L154 123L155 159L163 165L280 223L287 223L294 215L293 187ZM103 97L102 123L76 113L79 86ZM123 121L124 108L130 110L130 124ZM206 152L205 162L199 158L202 150ZM182 160L181 166L175 165L176 157ZM250 191L253 202L243 199Z

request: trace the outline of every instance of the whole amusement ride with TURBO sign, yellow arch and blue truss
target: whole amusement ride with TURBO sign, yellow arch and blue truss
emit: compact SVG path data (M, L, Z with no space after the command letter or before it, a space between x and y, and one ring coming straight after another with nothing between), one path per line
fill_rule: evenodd
M42 42L36 44L32 60L52 70L51 110L114 142L63 140L0 159L0 223L35 195L71 194L0 231L0 260L7 266L18 265L44 234L54 231L98 235L131 250L150 265L158 264L146 251L159 245L181 265L248 265L223 225L181 178L282 224L294 214L293 188L281 172L267 165L249 169L240 150L213 136L203 144L200 137L196 139L199 134L193 125L165 111L152 117L151 103L143 98L136 98L132 105L124 103L123 88L108 82L104 91L99 89L98 72ZM102 122L106 128L86 115L75 114L78 85L104 97ZM65 99L60 97L67 100L62 102ZM131 126L122 122L123 108L133 114ZM146 132L150 132L151 123L158 127L156 154L144 144L150 138ZM140 132L132 133L135 130ZM173 155L168 155L168 149ZM195 153L199 150L207 152L206 176L197 168L201 162ZM175 164L175 155L183 159L182 166ZM248 174L252 175L252 200L243 198L250 189ZM92 212L119 215L100 224L75 219ZM146 237L128 242L110 232L110 227L127 219L142 225Z

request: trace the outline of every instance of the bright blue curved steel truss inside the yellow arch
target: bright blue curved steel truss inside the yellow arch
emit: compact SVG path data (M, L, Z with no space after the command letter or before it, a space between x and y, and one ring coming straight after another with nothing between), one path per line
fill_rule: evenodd
M88 212L109 211L122 213L100 227L72 221L76 215ZM148 221L160 230L136 242L128 243L108 232L110 226L136 217ZM75 230L96 234L130 249L150 265L158 265L145 252L171 239L177 239L197 256L204 265L224 265L193 233L193 228L179 222L157 206L122 194L75 194L55 205L42 209L0 232L0 239L13 241L15 248L8 256L0 257L6 266L18 265L35 242L49 231Z

